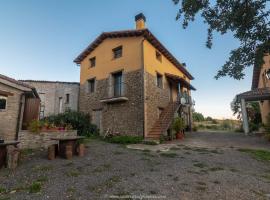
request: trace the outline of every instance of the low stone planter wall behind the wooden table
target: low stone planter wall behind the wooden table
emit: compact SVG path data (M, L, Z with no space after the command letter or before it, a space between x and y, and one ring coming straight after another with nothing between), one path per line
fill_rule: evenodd
M48 131L41 133L20 131L19 147L21 149L47 148L49 145L57 143L57 141L51 140L51 138L61 136L77 136L77 131Z

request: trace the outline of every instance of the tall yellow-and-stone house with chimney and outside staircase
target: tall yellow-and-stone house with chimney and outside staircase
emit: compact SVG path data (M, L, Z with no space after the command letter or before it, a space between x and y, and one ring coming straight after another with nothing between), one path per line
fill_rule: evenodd
M104 32L75 60L80 65L79 110L101 133L157 139L175 114L191 128L193 80L181 64L135 17L136 29Z

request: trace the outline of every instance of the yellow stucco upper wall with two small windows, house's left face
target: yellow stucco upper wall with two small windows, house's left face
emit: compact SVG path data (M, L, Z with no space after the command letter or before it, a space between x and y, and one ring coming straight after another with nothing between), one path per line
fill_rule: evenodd
M117 70L129 72L142 68L142 40L142 37L105 39L81 62L81 84L94 77L96 80L108 78L110 73ZM120 45L123 47L122 57L114 59L112 49ZM96 66L90 68L89 59L92 57L96 57Z

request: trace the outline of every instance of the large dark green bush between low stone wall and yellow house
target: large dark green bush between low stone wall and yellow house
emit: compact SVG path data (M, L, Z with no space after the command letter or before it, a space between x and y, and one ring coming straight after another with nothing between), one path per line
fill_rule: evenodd
M56 126L68 126L78 131L78 135L90 136L98 134L96 125L90 123L90 115L83 112L67 110L64 113L51 115L43 119Z

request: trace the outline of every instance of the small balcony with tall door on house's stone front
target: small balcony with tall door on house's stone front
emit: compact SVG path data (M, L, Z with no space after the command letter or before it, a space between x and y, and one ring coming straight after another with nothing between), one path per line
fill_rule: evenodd
M128 101L126 95L126 84L120 82L108 87L108 97L100 99L101 103L118 103Z

